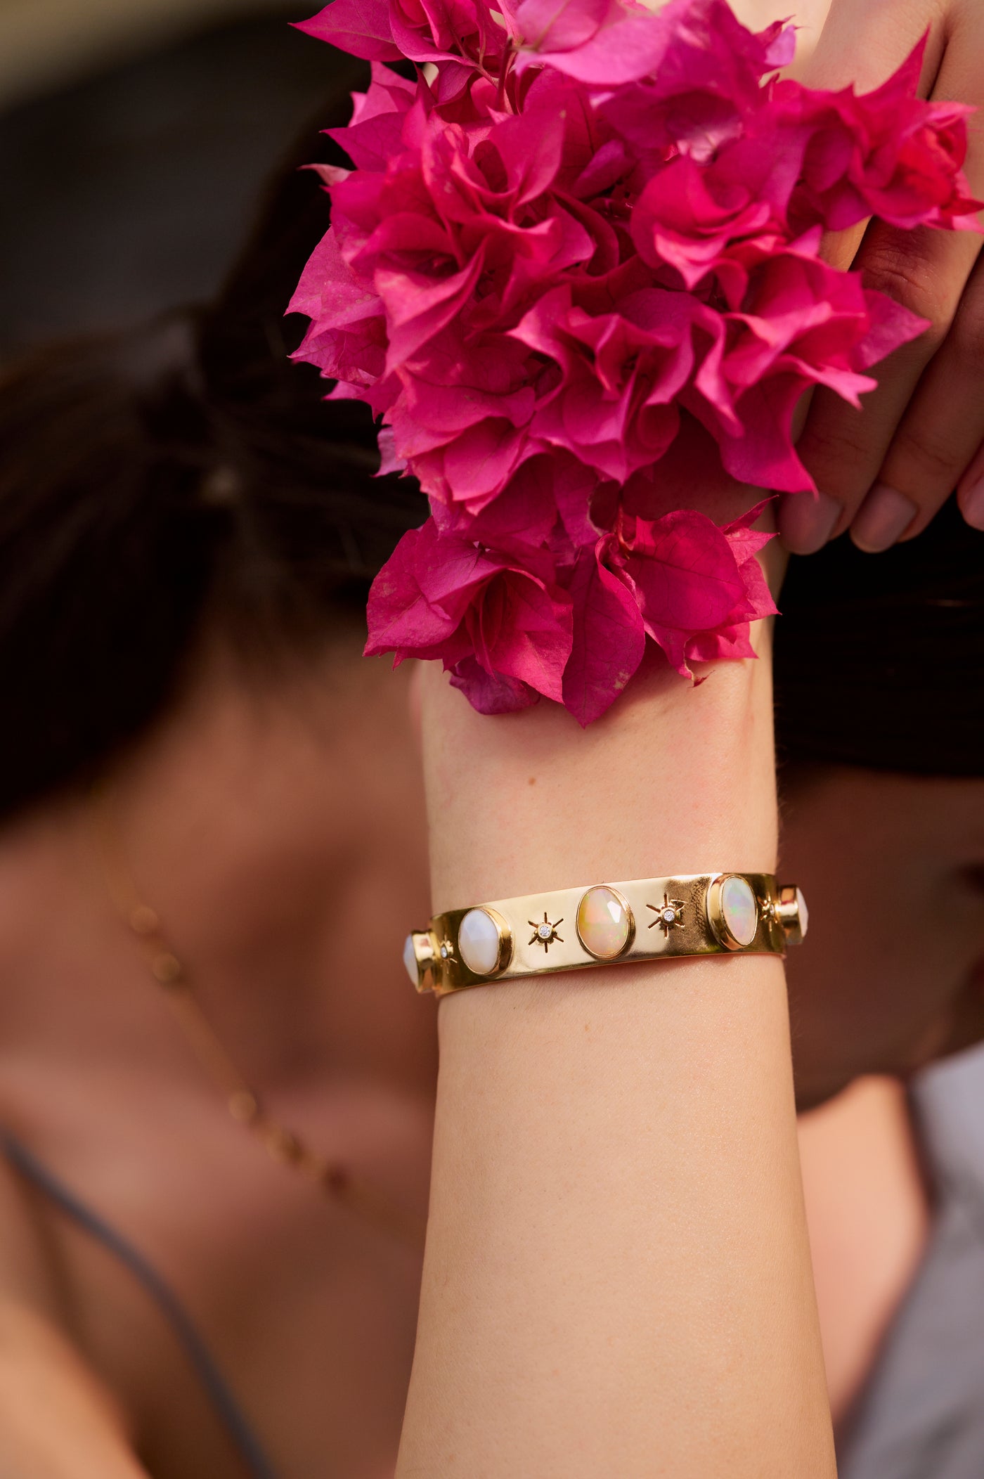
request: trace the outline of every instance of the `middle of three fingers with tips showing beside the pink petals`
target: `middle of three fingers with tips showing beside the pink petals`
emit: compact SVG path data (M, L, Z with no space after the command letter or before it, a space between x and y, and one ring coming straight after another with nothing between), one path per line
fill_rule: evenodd
M984 12L959 13L934 87L935 99L984 104L980 62ZM971 123L966 176L984 189L984 135ZM981 237L943 238L956 263L974 259L953 322L913 390L875 485L851 527L860 549L888 549L920 534L960 482L984 441L984 265Z

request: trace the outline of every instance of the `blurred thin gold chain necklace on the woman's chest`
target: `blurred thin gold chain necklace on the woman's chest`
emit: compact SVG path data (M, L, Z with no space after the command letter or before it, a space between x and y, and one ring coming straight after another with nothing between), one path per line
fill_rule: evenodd
M312 1151L299 1134L266 1112L259 1094L243 1078L203 1012L188 972L170 948L157 913L139 898L129 871L121 864L120 850L112 845L104 805L95 809L93 833L112 905L139 942L151 976L163 988L172 1016L206 1074L225 1097L237 1124L241 1124L278 1165L292 1167L333 1201L342 1202L357 1216L422 1251L426 1229L422 1217L389 1201L361 1177L354 1176L343 1162L330 1161Z

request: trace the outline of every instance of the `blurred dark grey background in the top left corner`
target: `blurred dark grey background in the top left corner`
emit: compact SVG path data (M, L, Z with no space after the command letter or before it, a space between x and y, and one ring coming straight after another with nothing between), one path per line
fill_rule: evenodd
M328 90L305 0L0 0L0 356L218 285Z

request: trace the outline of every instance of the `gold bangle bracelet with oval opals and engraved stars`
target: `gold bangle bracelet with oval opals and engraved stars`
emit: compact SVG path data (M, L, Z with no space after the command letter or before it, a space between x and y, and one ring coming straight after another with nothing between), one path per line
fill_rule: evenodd
M806 933L806 904L769 873L695 873L527 893L437 914L407 936L417 991L438 997L493 981L681 955L784 955Z

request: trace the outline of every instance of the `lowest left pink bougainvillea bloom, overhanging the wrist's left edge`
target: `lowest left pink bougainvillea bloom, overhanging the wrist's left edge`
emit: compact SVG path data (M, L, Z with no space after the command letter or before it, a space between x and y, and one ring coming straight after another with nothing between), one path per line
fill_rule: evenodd
M394 652L395 663L442 658L460 688L469 692L476 683L476 695L496 692L500 705L499 677L510 680L513 695L522 692L522 704L512 707L537 694L561 703L571 626L571 598L556 584L546 552L530 547L519 558L482 550L428 519L404 534L376 577L365 652ZM485 674L481 683L472 663Z

